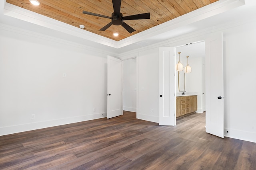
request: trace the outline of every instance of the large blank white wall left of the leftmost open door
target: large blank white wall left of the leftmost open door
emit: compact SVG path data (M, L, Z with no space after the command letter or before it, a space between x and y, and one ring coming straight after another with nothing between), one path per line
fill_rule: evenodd
M106 56L1 29L0 135L106 117Z

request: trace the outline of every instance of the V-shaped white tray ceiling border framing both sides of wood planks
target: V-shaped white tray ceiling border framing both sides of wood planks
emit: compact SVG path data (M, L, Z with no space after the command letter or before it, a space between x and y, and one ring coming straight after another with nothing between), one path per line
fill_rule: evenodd
M142 31L140 33L137 33L135 35L132 35L120 41L114 41L112 39L103 37L101 35L91 33L89 31L80 29L78 27L74 27L72 25L68 25L66 23L54 20L52 18L48 18L46 16L20 8L18 6L14 6L9 3L5 3L3 13L6 16L10 16L10 17L24 20L30 23L34 23L36 25L41 25L43 27L47 27L56 31L60 31L62 33L66 33L69 35L73 35L73 36L85 39L86 41L93 41L96 43L100 43L102 45L119 49L131 44L140 43L141 41L146 42L151 37L156 37L163 33L166 33L165 39L170 39L171 36L194 31L194 29L196 28L188 27L188 29L184 31L177 30L177 28L186 26L196 21L204 20L206 18L226 12L228 10L231 10L238 6L242 6L244 4L245 4L244 0L219 0L210 5L204 6L198 10L194 10L188 14L185 14L173 20L167 21L165 23L162 23L160 25L157 25L155 27L152 27L150 29L147 29L145 31ZM170 33L170 31L173 31L172 34ZM180 32L175 34L174 31L180 31Z

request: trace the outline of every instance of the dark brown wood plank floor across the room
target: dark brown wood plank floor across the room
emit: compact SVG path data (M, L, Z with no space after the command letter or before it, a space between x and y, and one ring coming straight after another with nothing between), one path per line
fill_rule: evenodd
M4 170L255 170L256 143L205 132L205 113L172 127L136 113L0 136Z

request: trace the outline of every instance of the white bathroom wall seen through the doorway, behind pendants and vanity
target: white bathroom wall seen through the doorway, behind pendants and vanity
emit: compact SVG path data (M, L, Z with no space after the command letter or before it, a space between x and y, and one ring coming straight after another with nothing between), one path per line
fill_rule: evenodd
M205 42L188 43L175 48L176 63L179 61L183 64L183 68L189 64L191 73L181 74L178 78L176 71L176 96L192 96L197 95L197 113L203 113L206 108L205 98ZM188 57L187 57L188 56ZM180 81L180 84L179 84ZM179 85L182 86L179 88ZM184 87L185 86L185 87ZM180 90L179 90L180 89Z

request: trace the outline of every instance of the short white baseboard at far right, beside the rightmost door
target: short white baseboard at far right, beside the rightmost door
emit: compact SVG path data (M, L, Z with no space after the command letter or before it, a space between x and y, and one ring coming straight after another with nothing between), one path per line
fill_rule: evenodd
M256 133L224 128L225 137L256 143Z

